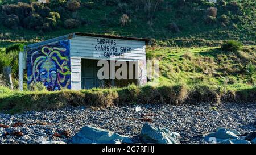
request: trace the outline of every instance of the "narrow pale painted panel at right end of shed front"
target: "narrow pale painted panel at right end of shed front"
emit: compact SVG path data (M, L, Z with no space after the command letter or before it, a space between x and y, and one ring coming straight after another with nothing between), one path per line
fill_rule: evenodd
M139 66L139 85L145 85L147 83L147 62L146 60L138 60Z

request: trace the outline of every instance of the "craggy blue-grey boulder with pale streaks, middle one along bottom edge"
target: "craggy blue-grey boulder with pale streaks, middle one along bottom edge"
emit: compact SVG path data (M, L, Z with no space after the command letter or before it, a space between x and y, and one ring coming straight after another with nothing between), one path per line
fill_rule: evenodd
M179 136L179 133L172 132L168 128L155 127L148 123L145 123L141 130L143 143L177 144Z

